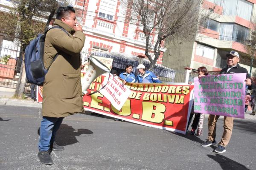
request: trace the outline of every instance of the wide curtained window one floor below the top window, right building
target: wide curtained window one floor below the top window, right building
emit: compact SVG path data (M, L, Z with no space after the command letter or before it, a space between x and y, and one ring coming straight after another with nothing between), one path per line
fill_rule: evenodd
M249 36L249 32L248 28L237 24L221 23L220 40L244 42Z

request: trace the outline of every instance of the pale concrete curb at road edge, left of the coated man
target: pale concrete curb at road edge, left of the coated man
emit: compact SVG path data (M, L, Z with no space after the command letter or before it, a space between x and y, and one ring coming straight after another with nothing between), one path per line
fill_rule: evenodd
M6 97L0 97L0 105L42 108L42 104L35 102L34 100L10 99L10 98L6 98Z

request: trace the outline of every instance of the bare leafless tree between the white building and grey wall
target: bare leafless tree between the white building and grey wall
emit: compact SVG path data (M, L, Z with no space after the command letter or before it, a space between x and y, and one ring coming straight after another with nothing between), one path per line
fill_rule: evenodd
M162 42L167 37L191 37L206 22L209 13L201 17L203 0L121 0L137 15L145 35L145 55L152 69L160 56ZM128 5L129 4L129 5ZM131 20L132 21L132 20ZM157 38L153 43L150 36ZM152 55L153 53L153 55Z

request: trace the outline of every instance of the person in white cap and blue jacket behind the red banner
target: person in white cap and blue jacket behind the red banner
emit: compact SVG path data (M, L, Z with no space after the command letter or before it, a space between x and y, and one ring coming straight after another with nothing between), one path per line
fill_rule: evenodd
M145 69L145 65L139 64L137 69L138 69L138 72L139 72L139 74L136 77L137 82L161 83L161 80L158 79L158 77L154 73L152 73L151 71L147 71Z

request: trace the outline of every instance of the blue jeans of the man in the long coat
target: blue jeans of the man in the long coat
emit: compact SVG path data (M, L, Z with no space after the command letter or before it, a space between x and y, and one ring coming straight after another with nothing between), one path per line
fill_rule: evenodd
M63 119L64 117L57 118L43 116L38 143L39 151L49 150L50 144L54 142L56 132L61 126Z

